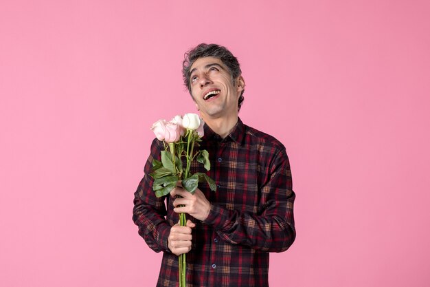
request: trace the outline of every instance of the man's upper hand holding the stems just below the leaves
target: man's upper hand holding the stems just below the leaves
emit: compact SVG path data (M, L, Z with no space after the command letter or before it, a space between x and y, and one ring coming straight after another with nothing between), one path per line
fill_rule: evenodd
M188 213L196 220L201 221L205 220L209 215L210 202L200 189L196 189L194 194L191 194L182 187L176 187L170 191L170 195L173 197L181 196L181 198L177 198L173 202L174 212Z

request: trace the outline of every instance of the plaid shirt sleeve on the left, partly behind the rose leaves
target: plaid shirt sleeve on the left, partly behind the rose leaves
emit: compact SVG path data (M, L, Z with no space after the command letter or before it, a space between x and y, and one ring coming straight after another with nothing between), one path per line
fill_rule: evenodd
M142 178L135 192L133 200L133 222L139 226L139 235L142 236L148 246L155 252L167 251L168 236L170 234L170 224L166 221L165 197L157 198L152 191L153 179L148 176L152 160L160 160L160 151L163 143L155 139L152 141L151 153L144 168L144 178Z

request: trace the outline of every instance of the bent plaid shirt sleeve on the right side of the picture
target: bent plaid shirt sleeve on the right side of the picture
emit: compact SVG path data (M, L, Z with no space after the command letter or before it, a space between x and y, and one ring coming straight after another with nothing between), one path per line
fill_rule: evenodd
M204 223L212 225L218 235L231 244L242 244L267 252L286 251L295 240L295 193L285 149L273 158L267 178L260 188L260 212L232 211L211 204Z

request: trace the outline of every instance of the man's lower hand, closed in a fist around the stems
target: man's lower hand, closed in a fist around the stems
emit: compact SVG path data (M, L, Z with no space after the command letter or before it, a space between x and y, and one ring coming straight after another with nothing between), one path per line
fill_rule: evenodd
M168 237L168 247L174 255L188 253L191 250L191 228L196 227L196 224L187 220L187 226L179 226L175 224L170 228Z

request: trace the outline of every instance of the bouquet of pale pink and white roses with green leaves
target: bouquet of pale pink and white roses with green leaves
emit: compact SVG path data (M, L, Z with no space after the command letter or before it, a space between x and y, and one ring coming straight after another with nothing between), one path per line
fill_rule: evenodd
M158 140L163 140L165 149L161 151L161 162L152 160L149 174L154 178L152 189L159 198L167 195L182 181L182 187L190 193L196 191L199 182L207 182L212 191L216 191L216 184L205 173L190 173L193 160L203 164L210 170L209 153L203 149L196 151L203 137L203 120L197 114L175 116L169 122L157 120L151 129ZM183 167L185 163L185 169ZM184 213L179 213L179 225L186 225ZM185 254L179 255L179 286L185 287Z

